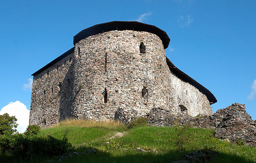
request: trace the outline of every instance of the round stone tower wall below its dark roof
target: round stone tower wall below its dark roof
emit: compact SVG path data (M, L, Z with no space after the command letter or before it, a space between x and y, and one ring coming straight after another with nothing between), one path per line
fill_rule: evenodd
M74 62L76 118L127 121L170 109L165 48L154 33L103 29L75 43Z

